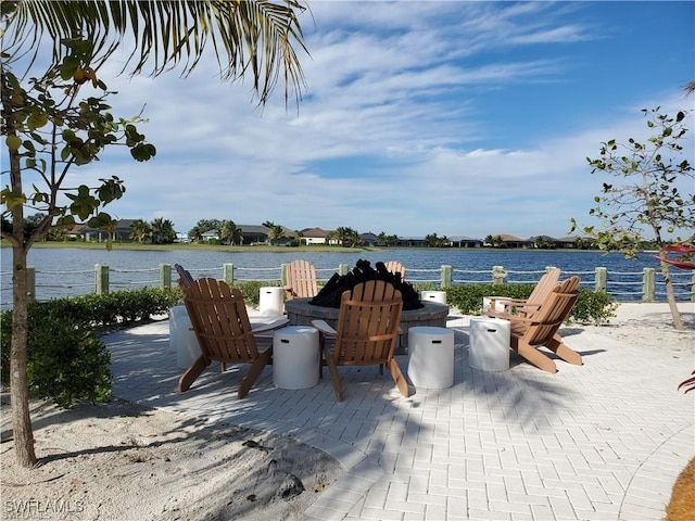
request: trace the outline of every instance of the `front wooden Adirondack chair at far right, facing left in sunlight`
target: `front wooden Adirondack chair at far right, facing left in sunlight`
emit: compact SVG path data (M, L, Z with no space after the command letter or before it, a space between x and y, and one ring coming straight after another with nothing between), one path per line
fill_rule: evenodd
M530 317L509 316L511 348L534 366L557 372L557 366L539 347L545 346L565 361L582 365L582 357L563 343L557 334L579 297L579 277L570 277L556 285L541 307Z

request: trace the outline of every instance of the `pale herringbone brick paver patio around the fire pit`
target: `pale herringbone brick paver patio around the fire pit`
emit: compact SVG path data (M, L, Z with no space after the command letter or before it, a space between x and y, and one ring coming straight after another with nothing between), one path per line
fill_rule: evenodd
M150 407L279 434L333 456L348 472L307 519L660 520L695 455L695 393L678 383L693 351L631 346L582 328L563 331L584 359L545 373L515 354L503 372L468 365L468 322L455 330L454 385L403 398L377 368L340 368L301 391L264 370L245 399L238 374L208 369L178 394L168 321L114 333L114 394ZM399 357L406 370L407 358Z

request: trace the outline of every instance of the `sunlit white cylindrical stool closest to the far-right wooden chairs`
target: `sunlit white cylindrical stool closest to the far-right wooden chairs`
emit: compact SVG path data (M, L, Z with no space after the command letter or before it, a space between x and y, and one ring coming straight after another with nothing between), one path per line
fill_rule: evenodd
M500 318L470 319L468 365L481 371L509 369L510 325Z

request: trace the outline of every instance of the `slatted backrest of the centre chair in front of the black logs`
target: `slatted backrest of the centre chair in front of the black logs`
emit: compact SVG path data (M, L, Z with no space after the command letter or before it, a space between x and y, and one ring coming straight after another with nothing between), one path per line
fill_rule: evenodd
M333 358L342 366L386 364L393 357L403 310L401 292L382 280L342 294Z

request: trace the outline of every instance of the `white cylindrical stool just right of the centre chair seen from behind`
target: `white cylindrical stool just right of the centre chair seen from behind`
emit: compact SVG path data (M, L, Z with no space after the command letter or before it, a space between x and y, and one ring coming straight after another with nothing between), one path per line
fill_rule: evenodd
M408 330L408 377L416 387L454 384L454 331L417 326Z

